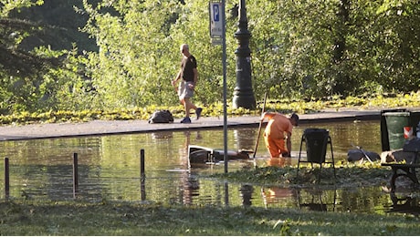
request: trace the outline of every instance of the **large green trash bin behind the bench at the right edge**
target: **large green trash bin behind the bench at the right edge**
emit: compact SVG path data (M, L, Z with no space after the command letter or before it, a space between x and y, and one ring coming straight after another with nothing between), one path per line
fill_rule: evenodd
M383 113L388 133L389 149L402 149L404 147L404 127L410 126L410 112Z

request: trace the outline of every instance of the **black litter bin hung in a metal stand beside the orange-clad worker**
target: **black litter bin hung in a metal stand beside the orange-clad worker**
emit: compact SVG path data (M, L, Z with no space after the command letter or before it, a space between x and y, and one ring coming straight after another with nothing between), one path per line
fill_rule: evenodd
M308 161L318 164L325 162L330 132L327 129L305 129L303 137Z

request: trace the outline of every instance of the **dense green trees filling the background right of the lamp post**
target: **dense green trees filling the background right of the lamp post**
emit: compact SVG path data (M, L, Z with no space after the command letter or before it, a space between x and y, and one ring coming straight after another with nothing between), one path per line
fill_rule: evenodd
M247 1L254 88L321 98L419 89L418 1Z

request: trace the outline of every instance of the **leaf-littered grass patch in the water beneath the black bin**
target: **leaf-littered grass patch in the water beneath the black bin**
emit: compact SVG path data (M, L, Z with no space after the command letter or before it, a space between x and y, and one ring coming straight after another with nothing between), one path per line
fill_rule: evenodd
M391 170L381 167L379 161L359 163L338 162L335 164L336 178L331 164L314 164L313 169L308 163L299 166L283 168L268 166L255 170L236 170L229 173L214 174L213 177L232 181L247 181L250 183L287 185L290 187L318 183L324 185L339 185L352 187L384 185L389 182ZM320 180L319 179L320 175Z

